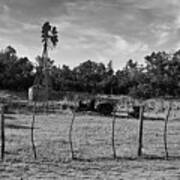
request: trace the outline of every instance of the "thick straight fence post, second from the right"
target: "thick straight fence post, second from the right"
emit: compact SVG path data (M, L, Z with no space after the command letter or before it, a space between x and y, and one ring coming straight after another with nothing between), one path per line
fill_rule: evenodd
M143 147L143 113L144 106L141 105L139 109L139 147L138 147L138 156L142 155L142 147Z

